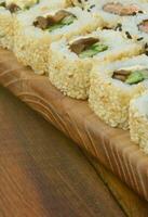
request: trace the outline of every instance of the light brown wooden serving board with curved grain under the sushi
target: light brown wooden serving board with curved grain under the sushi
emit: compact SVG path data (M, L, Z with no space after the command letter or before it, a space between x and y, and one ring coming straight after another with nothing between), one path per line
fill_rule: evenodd
M86 101L64 97L48 77L35 75L6 50L0 50L0 84L148 201L148 156L130 141L129 131L110 128Z

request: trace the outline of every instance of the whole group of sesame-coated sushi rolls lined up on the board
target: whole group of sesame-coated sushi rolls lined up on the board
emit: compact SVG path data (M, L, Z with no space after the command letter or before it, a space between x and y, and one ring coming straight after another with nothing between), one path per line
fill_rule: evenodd
M148 153L148 0L0 0L0 47Z

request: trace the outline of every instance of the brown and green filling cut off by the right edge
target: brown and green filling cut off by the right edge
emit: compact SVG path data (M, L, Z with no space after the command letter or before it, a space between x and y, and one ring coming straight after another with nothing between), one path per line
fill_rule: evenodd
M148 79L148 68L121 68L113 72L112 78L121 80L127 85L136 85Z

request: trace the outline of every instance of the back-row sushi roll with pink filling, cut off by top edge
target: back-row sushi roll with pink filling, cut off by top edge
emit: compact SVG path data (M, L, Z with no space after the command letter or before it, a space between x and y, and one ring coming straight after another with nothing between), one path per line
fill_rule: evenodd
M123 17L136 16L144 11L148 11L148 4L138 0L93 0L86 4L88 11L95 13L104 20L108 28L116 27Z

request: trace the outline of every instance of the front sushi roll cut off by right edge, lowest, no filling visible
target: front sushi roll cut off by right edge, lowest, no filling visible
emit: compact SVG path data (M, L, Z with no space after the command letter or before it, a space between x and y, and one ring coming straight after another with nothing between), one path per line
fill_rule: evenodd
M132 141L148 154L148 91L131 101L130 132Z

